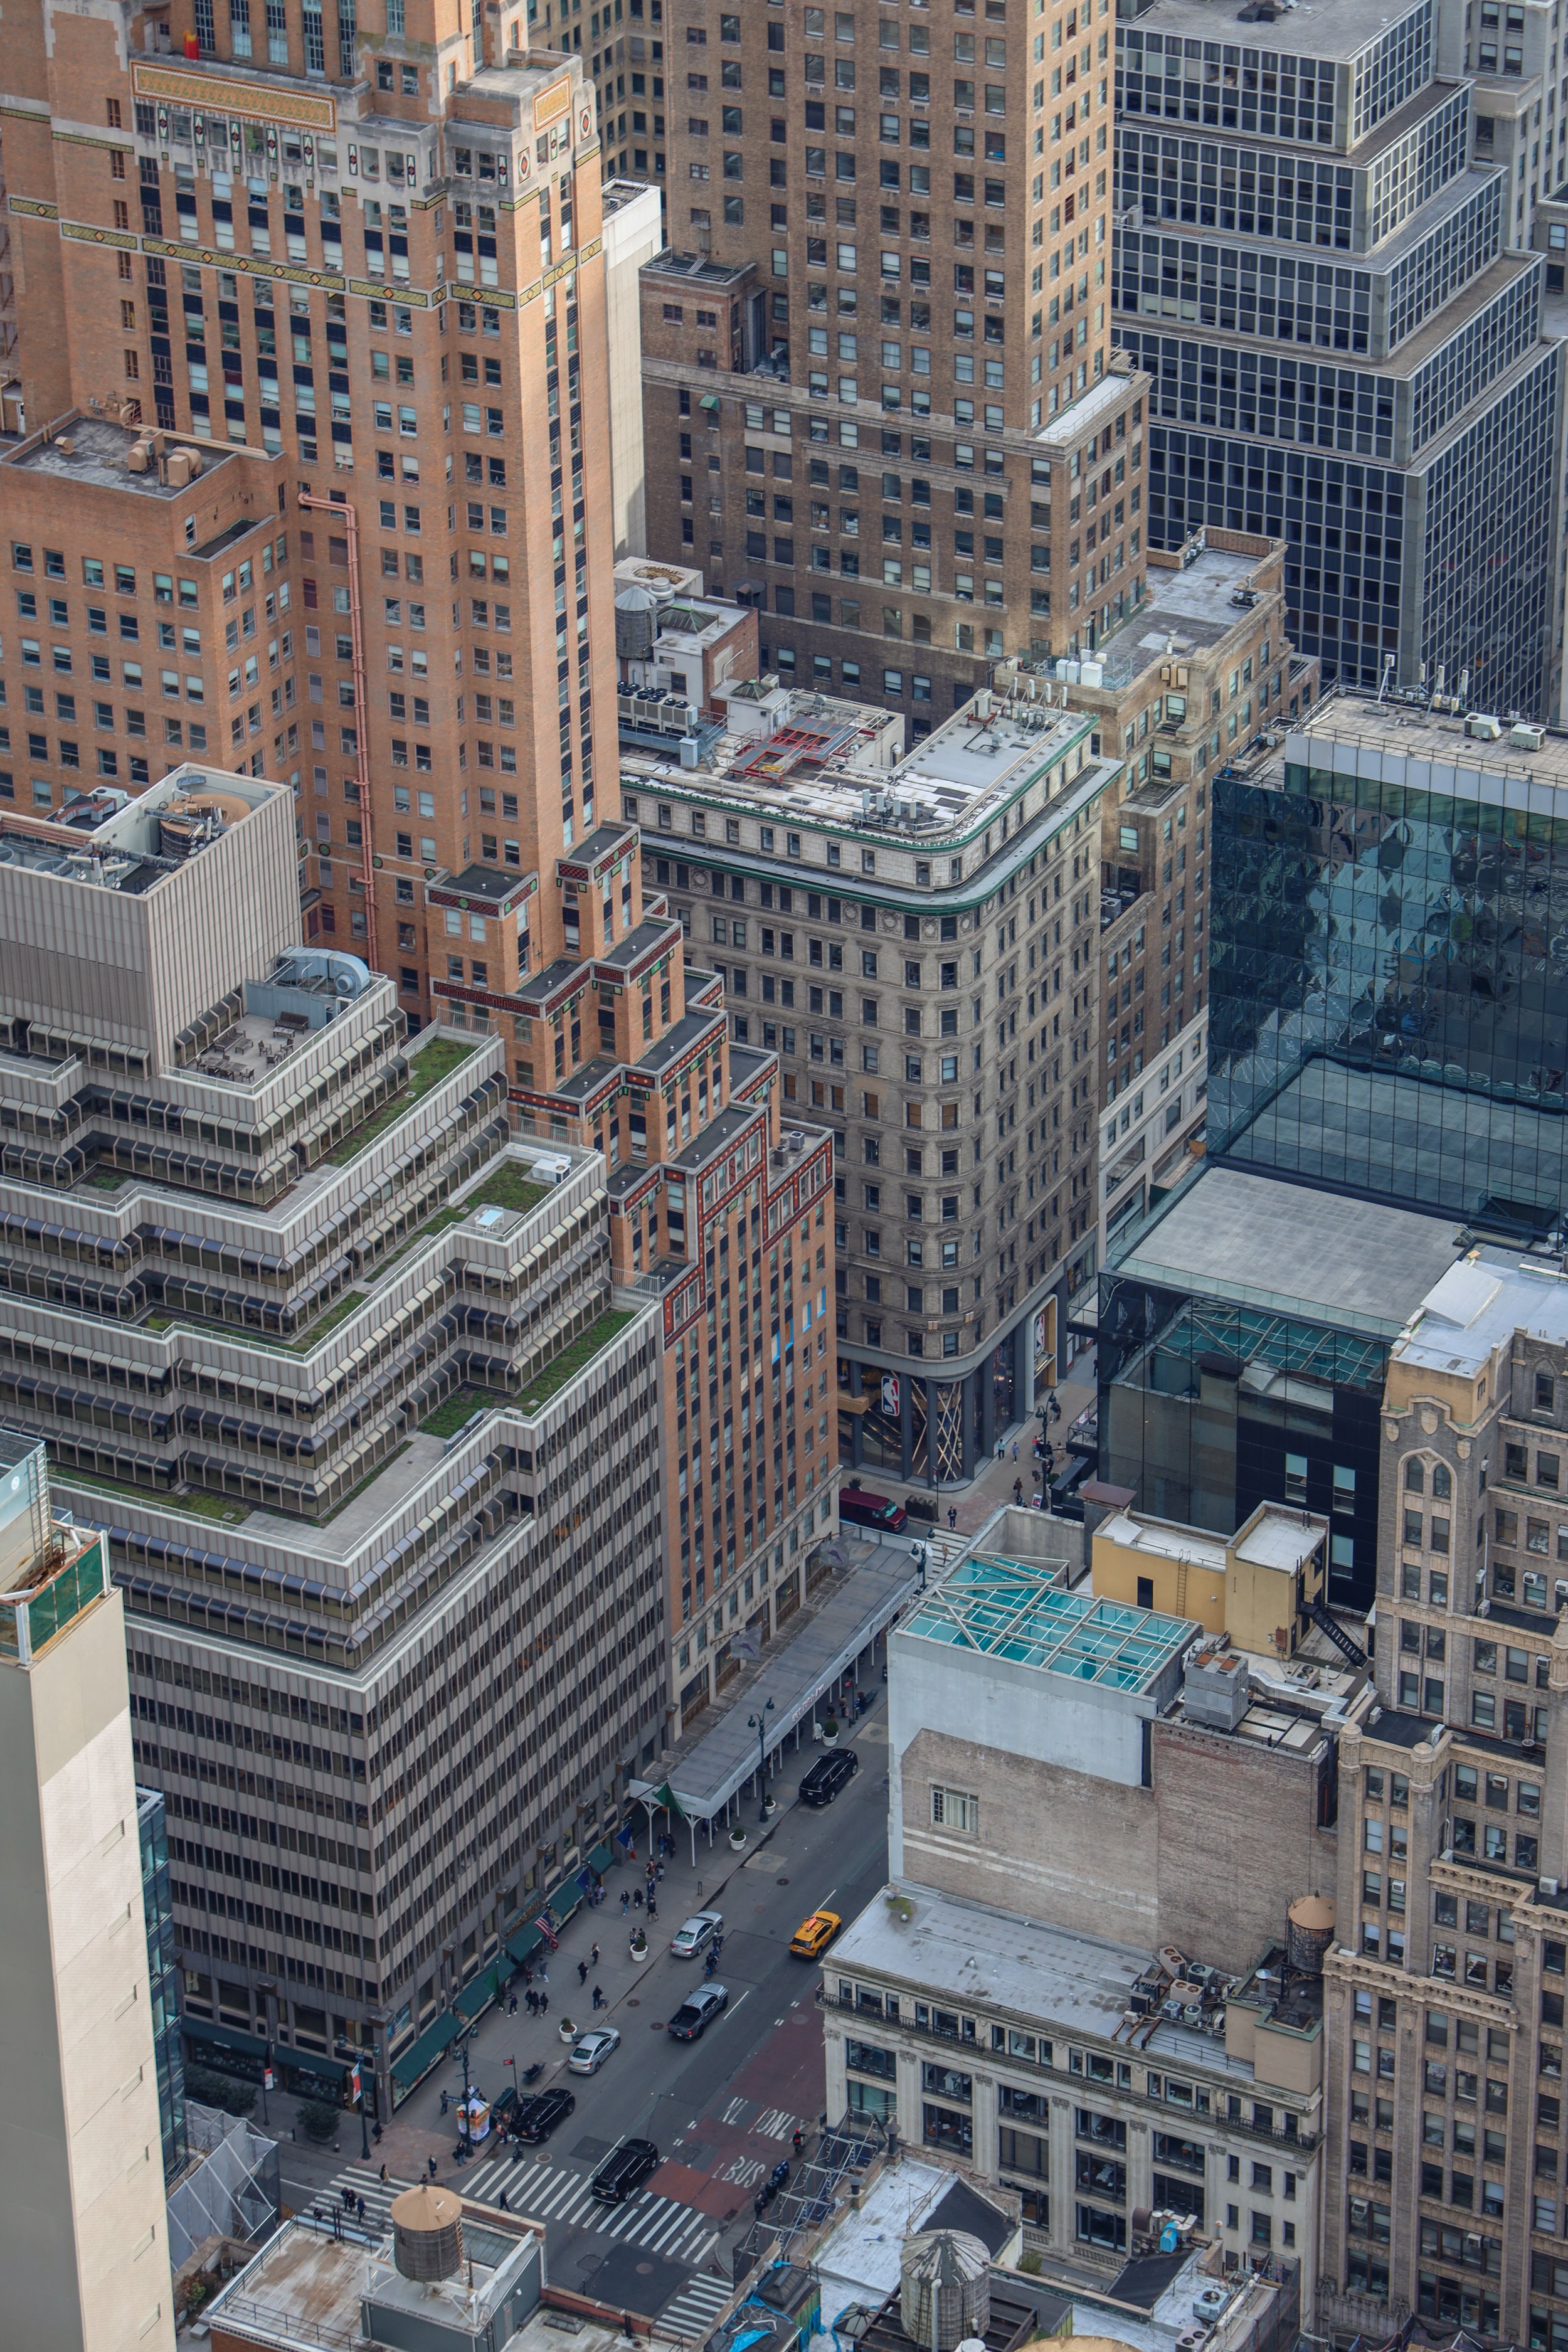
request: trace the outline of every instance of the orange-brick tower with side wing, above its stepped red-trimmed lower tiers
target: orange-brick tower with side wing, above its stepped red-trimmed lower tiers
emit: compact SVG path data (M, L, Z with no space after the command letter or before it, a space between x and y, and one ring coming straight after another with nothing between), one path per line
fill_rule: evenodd
M428 875L548 873L614 760L637 499L602 146L578 59L529 42L522 5L449 0L336 33L301 0L134 31L45 0L9 42L16 369L49 445L7 468L38 546L12 790L134 790L190 750L287 779L308 936L416 1023L447 953Z

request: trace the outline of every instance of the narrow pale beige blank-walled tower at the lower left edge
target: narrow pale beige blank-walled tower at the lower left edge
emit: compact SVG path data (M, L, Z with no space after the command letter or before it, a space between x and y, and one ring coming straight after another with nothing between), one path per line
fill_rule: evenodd
M172 2352L125 1609L42 1444L7 1430L0 1465L7 2333Z

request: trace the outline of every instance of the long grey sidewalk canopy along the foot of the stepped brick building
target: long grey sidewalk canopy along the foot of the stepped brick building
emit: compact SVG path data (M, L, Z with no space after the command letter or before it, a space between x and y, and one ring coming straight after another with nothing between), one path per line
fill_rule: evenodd
M914 1592L919 1592L919 1564L910 1557L907 1543L879 1543L863 1566L849 1569L811 1623L764 1663L748 1693L752 1703L738 1700L691 1755L670 1769L668 1788L682 1813L693 1820L722 1813L757 1771L757 1733L748 1729L745 1717L773 1700L773 1712L766 1717L769 1755L773 1755L788 1731L811 1719L818 1698L879 1632L886 1632Z

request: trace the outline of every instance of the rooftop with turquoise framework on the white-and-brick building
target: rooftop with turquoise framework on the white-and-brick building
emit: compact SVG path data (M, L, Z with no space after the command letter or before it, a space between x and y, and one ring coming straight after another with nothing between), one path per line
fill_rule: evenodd
M1060 1569L971 1555L926 1592L903 1632L1112 1691L1152 1689L1192 1644L1187 1618L1067 1592Z

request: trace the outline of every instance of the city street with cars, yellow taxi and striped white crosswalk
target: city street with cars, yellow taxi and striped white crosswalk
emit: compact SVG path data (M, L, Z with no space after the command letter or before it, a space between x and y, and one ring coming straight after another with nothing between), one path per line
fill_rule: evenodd
M658 1884L649 1957L635 1964L628 1955L630 1926L644 1915L632 1910L623 1919L621 1891L642 1884L649 1849L639 1837L637 1860L609 1872L599 1910L578 1910L562 1931L559 1952L548 1955L548 1978L534 1971L536 1987L550 1997L548 2018L531 2018L522 1999L517 2016L496 2006L480 2018L468 2070L487 2098L512 2082L508 2058L517 2070L543 2063L545 2072L531 2089L567 2084L576 2093L576 2114L543 2147L498 2154L491 2143L475 2150L468 2164L456 2164L456 2131L451 2117L442 2117L440 2098L447 2091L456 2107L463 2067L449 2058L383 2129L369 2169L360 2164L353 2114L343 2117L336 2152L284 2143L284 2204L331 2201L334 2187L350 2185L367 2199L367 2220L378 2218L395 2183L425 2176L435 2157L440 2180L487 2199L505 2192L508 2206L548 2220L550 2274L559 2284L604 2303L635 2303L642 2312L696 2293L691 2312L682 2305L677 2321L689 2319L698 2331L703 2293L712 2296L715 2284L693 2286L693 2267L710 2265L719 2246L750 2225L757 2183L790 2154L795 2126L816 2122L823 2105L823 2030L813 1999L820 1969L790 1959L790 1936L818 1907L837 1910L849 1922L886 1877L882 1686L853 1745L860 1771L820 1811L795 1799L820 1748L809 1743L785 1757L771 1783L780 1804L766 1830L757 1823L755 1797L743 1804L750 1832L743 1853L733 1853L724 1837L708 1846L698 1832L693 1870L682 1828L679 1851ZM665 2020L703 1983L703 1962L675 1959L670 1938L701 1907L724 1912L715 1983L729 1987L729 2009L701 2042L677 2044ZM599 1966L578 1985L578 1959L588 1959L595 1940ZM597 2016L590 2006L595 1983L609 2002ZM614 2025L621 2032L621 2046L597 2074L567 2072L562 2016L578 2027ZM623 2136L651 2138L661 2169L628 2206L595 2209L588 2176ZM378 2178L383 2161L388 2183Z

